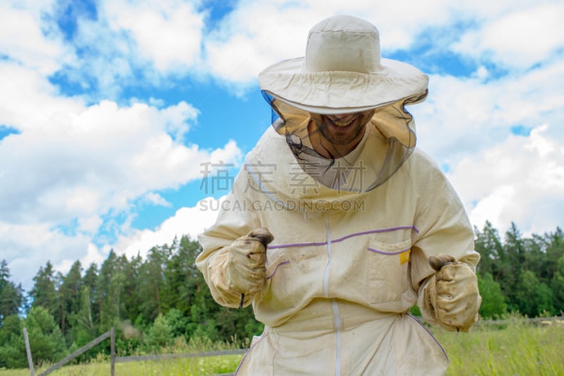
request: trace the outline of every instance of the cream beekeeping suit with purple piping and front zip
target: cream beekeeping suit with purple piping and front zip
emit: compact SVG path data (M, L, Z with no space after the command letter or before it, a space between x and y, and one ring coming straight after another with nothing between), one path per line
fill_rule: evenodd
M355 151L364 165L381 160L386 149L377 127L367 132ZM269 127L221 207L215 225L200 235L196 261L221 305L240 301L224 281L226 247L258 227L274 235L264 288L245 296L264 332L237 375L446 370L446 352L409 310L434 275L429 256L448 253L474 268L479 254L460 199L424 153L415 149L376 189L341 192L300 170L285 137Z

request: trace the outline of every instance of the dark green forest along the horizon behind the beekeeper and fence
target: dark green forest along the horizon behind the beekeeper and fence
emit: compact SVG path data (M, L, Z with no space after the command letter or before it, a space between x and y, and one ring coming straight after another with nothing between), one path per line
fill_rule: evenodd
M507 313L528 317L564 311L564 232L523 237L513 223L501 238L491 223L474 229L481 254L477 274L482 319ZM25 292L0 262L0 369L26 368L23 327L34 363L59 361L116 327L120 356L159 353L178 341L220 341L248 346L262 332L251 308L214 302L195 267L200 244L189 237L154 246L142 258L111 251L102 265L76 261L63 275L47 262ZM412 312L417 314L414 306ZM109 351L100 345L80 359Z

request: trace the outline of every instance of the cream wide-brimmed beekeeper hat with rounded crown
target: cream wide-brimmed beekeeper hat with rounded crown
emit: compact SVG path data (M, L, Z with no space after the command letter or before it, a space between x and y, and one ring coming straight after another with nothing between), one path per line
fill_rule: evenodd
M260 88L313 113L351 113L422 101L429 77L381 58L378 29L350 15L326 18L309 31L305 56L259 73Z

